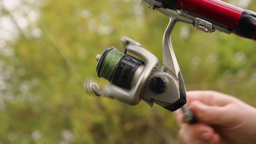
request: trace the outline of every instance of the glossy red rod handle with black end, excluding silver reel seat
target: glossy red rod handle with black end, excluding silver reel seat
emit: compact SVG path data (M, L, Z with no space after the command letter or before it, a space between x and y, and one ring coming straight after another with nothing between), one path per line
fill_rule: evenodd
M256 40L256 13L220 0L157 0L169 9L178 9Z

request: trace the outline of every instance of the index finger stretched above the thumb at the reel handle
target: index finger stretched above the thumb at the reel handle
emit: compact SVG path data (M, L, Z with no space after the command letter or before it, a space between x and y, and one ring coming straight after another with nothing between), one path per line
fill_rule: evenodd
M207 105L225 106L235 98L230 95L222 94L214 91L190 91L187 92L187 105L193 101L201 101Z

